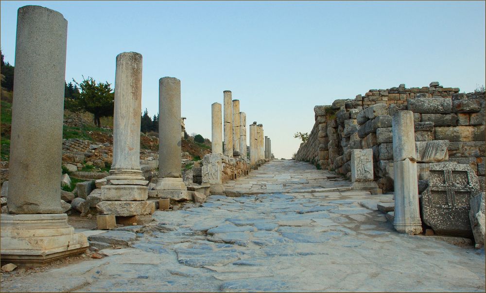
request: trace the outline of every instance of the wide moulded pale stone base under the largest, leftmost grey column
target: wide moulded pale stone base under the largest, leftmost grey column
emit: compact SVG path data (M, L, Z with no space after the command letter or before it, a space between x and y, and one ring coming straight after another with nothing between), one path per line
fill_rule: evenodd
M53 260L83 253L86 236L74 233L66 214L1 214L1 263L40 267Z

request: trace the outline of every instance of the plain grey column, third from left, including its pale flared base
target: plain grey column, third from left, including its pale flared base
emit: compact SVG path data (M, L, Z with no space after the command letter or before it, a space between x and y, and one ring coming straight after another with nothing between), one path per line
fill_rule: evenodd
M187 190L181 173L181 82L159 80L158 181L154 190Z

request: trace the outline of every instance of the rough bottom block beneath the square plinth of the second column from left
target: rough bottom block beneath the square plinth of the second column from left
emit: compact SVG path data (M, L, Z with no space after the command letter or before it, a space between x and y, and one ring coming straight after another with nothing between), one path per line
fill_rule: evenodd
M129 217L135 215L151 215L155 211L155 204L150 201L103 201L98 203L96 208L103 215Z

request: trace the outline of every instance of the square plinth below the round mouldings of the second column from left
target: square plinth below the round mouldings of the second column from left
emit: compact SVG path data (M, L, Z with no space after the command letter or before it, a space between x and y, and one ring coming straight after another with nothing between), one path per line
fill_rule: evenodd
M144 201L148 187L140 185L104 185L101 187L102 201Z

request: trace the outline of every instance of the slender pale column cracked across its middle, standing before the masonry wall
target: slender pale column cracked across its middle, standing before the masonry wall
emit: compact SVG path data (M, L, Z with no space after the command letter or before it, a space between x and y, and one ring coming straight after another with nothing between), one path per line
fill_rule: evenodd
M414 113L398 111L392 119L393 171L395 184L395 220L400 233L422 232L418 209L417 154L415 149Z

